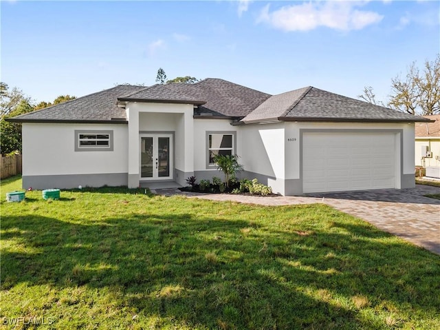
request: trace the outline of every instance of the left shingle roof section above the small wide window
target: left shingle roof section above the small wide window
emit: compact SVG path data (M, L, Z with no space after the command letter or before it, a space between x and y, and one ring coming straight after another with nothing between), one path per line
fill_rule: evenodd
M111 118L120 118L119 122L125 122L125 109L118 107L116 104L118 96L137 92L144 88L143 86L118 85L102 92L8 118L8 120L19 122L65 121L77 123L84 121L86 123L100 123L112 121ZM118 121L113 120L113 122Z

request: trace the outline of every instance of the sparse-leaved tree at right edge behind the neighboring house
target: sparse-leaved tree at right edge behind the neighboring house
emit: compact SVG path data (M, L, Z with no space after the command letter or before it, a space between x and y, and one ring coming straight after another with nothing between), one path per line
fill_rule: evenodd
M440 113L440 54L434 61L425 61L420 73L412 62L404 79L396 76L391 81L392 94L389 107L408 114Z

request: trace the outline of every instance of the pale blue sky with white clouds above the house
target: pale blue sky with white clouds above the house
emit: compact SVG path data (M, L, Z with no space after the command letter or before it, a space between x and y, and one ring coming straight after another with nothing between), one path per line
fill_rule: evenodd
M440 1L1 1L1 81L35 101L221 78L378 99L440 52Z

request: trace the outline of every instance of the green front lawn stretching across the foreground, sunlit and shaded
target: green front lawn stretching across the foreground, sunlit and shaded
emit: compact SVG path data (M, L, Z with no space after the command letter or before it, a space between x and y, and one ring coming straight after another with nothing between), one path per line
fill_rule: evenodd
M326 205L1 184L5 329L440 329L439 256Z

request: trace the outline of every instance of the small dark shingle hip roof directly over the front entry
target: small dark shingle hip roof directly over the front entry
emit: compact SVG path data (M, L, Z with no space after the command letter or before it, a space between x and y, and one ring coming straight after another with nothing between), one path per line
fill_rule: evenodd
M153 85L144 89L131 93L126 96L118 97L119 101L151 101L151 102L167 102L167 103L192 103L203 104L205 101L196 100L195 98L185 95L176 90L168 88L168 85Z

